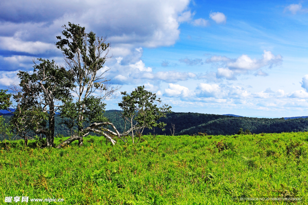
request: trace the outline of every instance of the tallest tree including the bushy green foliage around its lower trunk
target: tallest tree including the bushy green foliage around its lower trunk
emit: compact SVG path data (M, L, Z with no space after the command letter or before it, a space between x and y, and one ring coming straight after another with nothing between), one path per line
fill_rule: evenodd
M86 124L108 121L103 116L106 105L103 100L112 98L119 87L105 83L108 81L103 77L106 71L100 73L109 58L107 54L110 44L105 43L106 37L98 37L92 31L86 33L85 27L71 22L68 22L68 27L62 27L65 29L63 36L57 36L59 41L55 45L63 52L66 68L72 73L74 83L79 89L72 90L77 95L75 102L71 99L61 106L61 117L71 135L77 125L74 131L80 137L86 134L83 133ZM101 91L101 95L94 97L96 89ZM82 145L81 138L79 142Z

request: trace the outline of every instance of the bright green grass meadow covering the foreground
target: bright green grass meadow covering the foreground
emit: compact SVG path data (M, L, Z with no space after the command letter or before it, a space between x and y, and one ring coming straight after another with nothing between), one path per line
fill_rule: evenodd
M261 136L262 135L262 136ZM60 138L55 143L60 143ZM63 198L50 204L286 204L241 197L302 197L308 203L308 133L143 136L140 143L84 138L63 149L4 142L0 192ZM13 202L14 203L14 202ZM18 202L20 204L24 204ZM18 204L16 203L16 204Z

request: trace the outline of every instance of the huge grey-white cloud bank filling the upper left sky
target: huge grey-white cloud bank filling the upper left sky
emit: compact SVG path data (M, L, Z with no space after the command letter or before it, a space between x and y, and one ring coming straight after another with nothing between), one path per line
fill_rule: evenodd
M8 58L0 56L0 64L10 64L6 70L29 69L23 67L22 57L10 63L17 55L30 61L33 56L58 56L63 61L54 43L63 30L61 26L69 21L85 26L86 32L92 30L99 36L107 36L107 42L112 43L111 53L122 65L151 73L152 68L141 61L142 52L138 49L173 45L179 39L180 23L192 21L189 2L3 0L0 2L0 51ZM108 60L106 65L113 69L112 63L115 61ZM174 76L176 72L171 73ZM125 72L112 75L117 81L131 79Z

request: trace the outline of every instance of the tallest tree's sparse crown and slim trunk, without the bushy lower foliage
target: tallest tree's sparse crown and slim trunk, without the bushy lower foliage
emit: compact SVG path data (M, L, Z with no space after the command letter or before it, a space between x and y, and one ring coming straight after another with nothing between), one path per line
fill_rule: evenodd
M85 27L81 27L79 24L68 22L68 27L66 25L62 27L65 29L62 32L63 37L57 36L59 41L55 45L63 52L66 68L74 77L76 87L73 92L78 97L75 102L77 114L71 114L74 118L77 115L78 132L81 133L86 121L85 103L87 99L99 89L100 96L96 99L100 101L99 104L102 104L105 99L115 98L115 91L121 87L108 84L107 81L110 80L103 77L109 70L104 69L103 65L108 58L112 57L112 55L108 56L110 43L105 43L106 37L98 37L92 31L86 33ZM65 116L71 119L69 115ZM83 135L80 135L78 140L79 146L81 146Z

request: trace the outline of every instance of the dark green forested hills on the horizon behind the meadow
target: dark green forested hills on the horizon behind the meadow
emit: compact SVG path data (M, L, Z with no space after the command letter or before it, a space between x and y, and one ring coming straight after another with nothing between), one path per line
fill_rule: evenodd
M104 113L119 130L124 130L124 120L120 117L120 110L107 110ZM2 114L1 114L2 115ZM8 122L11 114L6 114L3 117ZM60 124L62 121L60 117L55 116L56 127L55 135L63 134L69 136L70 132L67 127ZM168 113L166 118L161 118L161 122L166 123L165 130L159 128L144 129L143 134L152 133L159 135L170 135L172 124L175 127L174 133L176 135L193 135L198 132L207 133L209 135L233 135L238 132L240 128L244 131L249 129L252 133L281 133L281 132L303 132L308 131L308 118L253 118L253 117L237 117L229 115L214 115L201 114L192 112L172 112ZM127 127L128 128L128 127Z

